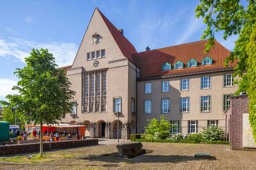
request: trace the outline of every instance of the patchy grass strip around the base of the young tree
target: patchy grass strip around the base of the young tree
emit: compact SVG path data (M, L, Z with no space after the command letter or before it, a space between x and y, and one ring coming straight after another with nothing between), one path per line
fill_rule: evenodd
M51 162L57 159L69 159L75 157L76 154L66 154L63 152L48 152L44 153L43 157L39 154L30 154L15 157L0 157L1 162L16 162L16 163L26 163L26 164L41 164L44 162Z

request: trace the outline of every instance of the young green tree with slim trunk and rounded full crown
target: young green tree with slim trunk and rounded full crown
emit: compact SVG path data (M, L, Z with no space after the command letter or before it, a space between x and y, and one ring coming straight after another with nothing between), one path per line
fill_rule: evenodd
M70 101L75 91L64 69L56 69L55 58L46 49L33 49L25 58L26 67L16 69L19 81L13 89L19 95L8 95L11 107L28 123L40 124L40 156L43 156L43 123L58 123L63 114L70 113Z

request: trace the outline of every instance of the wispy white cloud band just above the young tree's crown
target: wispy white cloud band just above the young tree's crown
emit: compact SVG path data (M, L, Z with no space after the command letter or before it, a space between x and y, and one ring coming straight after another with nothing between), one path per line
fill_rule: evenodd
M59 67L72 64L77 52L77 45L74 42L35 42L18 38L0 39L0 57L14 57L16 60L24 62L24 58L29 56L32 48L47 48L55 57L55 62Z

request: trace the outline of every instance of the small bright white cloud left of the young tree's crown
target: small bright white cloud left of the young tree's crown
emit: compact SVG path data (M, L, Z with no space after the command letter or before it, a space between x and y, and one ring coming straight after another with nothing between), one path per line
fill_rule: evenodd
M0 97L5 98L8 94L17 94L17 91L13 91L12 87L16 86L17 81L12 79L2 79L0 77Z

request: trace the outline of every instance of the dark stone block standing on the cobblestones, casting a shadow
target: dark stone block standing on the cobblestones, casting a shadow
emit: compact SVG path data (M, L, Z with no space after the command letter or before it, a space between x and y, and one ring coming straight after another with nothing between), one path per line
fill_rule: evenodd
M141 142L127 142L117 145L118 153L124 158L133 158L145 154L146 150L142 149Z

